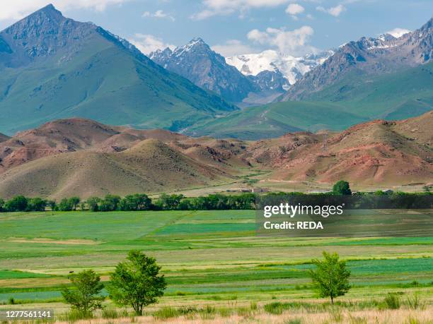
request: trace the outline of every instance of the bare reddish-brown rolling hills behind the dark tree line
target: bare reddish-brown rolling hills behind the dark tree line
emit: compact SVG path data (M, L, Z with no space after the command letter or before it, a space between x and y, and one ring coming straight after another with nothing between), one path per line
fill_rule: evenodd
M245 186L243 176L257 172L257 186L260 180L330 185L340 179L355 186L432 184L432 123L433 112L427 112L342 132L304 131L252 142L62 119L0 143L0 197Z

